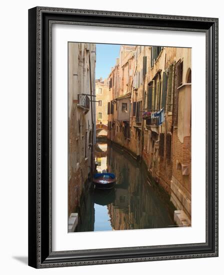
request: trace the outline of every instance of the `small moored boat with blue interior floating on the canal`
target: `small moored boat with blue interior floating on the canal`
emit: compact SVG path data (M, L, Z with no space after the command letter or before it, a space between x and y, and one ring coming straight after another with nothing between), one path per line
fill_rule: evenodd
M113 188L116 182L116 177L113 173L96 173L92 179L95 188L109 189Z

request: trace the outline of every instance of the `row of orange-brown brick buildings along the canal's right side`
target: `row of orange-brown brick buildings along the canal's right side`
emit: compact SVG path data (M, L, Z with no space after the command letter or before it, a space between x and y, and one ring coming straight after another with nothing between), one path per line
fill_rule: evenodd
M108 138L144 161L189 225L191 49L121 46L108 81Z

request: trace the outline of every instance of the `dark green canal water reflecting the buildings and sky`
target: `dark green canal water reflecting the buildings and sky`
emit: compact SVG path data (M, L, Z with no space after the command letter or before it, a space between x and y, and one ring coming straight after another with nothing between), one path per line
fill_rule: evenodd
M162 228L176 226L173 205L143 164L107 143L95 146L97 171L116 175L115 187L94 189L89 183L81 200L76 231Z

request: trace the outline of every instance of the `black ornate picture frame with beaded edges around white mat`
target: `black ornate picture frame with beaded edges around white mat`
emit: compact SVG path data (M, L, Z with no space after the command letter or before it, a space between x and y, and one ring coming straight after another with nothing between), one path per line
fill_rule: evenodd
M206 242L52 251L51 27L53 22L198 31L206 35ZM28 10L28 264L35 268L218 256L218 19L34 7ZM66 183L65 183L66 184Z

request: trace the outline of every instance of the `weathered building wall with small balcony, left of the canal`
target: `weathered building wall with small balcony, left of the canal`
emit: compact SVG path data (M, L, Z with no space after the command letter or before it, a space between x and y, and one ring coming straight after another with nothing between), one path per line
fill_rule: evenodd
M80 207L94 161L95 57L95 44L68 43L68 216Z

